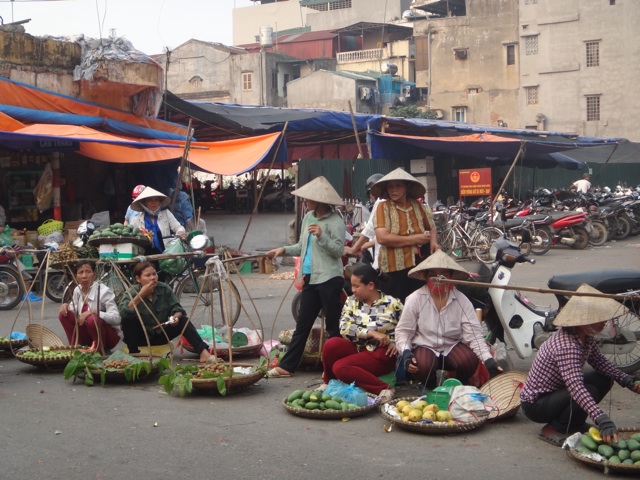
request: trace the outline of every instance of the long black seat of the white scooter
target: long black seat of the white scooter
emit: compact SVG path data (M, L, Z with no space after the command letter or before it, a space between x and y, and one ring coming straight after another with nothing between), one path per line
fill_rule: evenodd
M575 291L586 283L602 293L624 293L640 290L640 271L638 270L594 270L581 273L554 275L547 285L556 290Z

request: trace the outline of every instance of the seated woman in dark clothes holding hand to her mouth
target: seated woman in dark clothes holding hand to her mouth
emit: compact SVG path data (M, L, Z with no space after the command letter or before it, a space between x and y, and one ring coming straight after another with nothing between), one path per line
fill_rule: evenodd
M138 263L133 269L137 285L121 297L118 308L122 316L124 343L129 353L139 353L140 346L164 345L183 335L201 363L215 363L196 327L189 322L187 312L178 302L169 285L158 281L156 268L150 262Z

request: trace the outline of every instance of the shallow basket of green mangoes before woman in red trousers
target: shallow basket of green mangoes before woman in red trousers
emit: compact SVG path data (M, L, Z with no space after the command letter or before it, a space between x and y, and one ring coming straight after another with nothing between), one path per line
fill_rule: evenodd
M377 409L375 395L367 394L367 405L347 403L338 397L316 390L295 390L282 401L282 406L292 415L320 420L338 420L360 417Z

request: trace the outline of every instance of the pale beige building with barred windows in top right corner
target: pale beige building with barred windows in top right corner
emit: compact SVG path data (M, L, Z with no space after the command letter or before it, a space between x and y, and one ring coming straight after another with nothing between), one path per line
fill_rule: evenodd
M520 0L520 126L640 140L639 21L637 1Z

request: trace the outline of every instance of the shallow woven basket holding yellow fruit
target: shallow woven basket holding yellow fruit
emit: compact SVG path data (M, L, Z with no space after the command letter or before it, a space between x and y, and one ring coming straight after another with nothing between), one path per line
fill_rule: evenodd
M435 403L428 403L424 397L398 398L382 406L382 416L392 425L427 435L446 435L475 430L487 421L482 417L473 422L459 422L448 410ZM387 427L389 431L390 427Z

